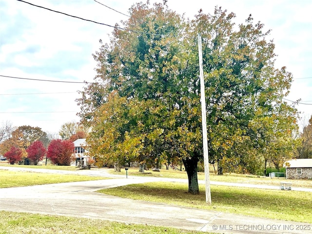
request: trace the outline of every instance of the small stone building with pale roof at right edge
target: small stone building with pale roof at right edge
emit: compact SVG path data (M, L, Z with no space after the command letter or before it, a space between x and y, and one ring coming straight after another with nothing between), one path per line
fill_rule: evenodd
M287 179L312 179L312 158L292 159L284 167Z

